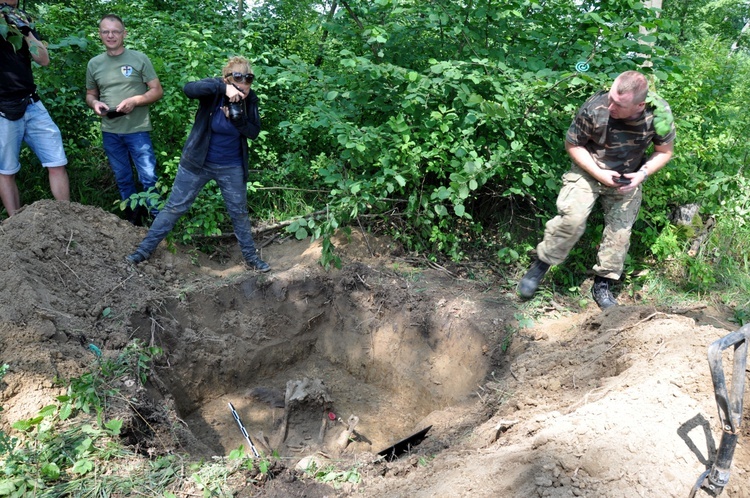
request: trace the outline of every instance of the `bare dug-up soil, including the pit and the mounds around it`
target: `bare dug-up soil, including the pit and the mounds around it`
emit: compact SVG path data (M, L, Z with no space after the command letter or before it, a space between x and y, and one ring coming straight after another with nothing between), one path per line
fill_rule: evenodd
M256 448L281 457L236 496L687 497L716 458L706 352L738 327L710 308L550 302L520 328L512 286L490 272L467 279L363 233L337 239L343 266L330 271L317 243L259 235L268 274L236 244L210 256L163 244L128 264L145 233L54 201L0 224L0 428L53 402L54 380L96 352L139 339L165 354L145 388L121 379L130 402L107 416L142 458L205 459L249 451L231 404ZM750 496L745 413L732 498ZM399 458L378 457L426 428ZM295 470L311 459L356 467L361 482Z

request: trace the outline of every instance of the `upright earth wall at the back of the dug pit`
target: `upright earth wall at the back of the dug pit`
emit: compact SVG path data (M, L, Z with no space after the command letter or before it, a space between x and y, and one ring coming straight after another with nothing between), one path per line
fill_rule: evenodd
M248 274L165 302L131 326L156 331L166 353L156 371L180 416L311 354L415 406L440 409L473 392L488 369L482 333L445 299L372 271Z

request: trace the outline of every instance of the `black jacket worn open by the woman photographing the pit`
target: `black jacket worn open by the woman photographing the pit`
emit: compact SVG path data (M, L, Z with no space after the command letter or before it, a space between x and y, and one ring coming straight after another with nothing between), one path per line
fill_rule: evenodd
M203 168L208 155L208 143L211 140L211 119L217 107L224 101L227 86L221 78L206 78L192 81L185 85L183 91L191 99L198 99L198 111L195 113L193 129L190 130L185 146L182 149L180 164L193 171ZM260 134L260 114L258 114L258 96L252 89L242 103L245 106L244 119L234 126L246 138L240 138L242 147L242 164L245 165L245 181L248 180L248 147L247 138L255 139Z

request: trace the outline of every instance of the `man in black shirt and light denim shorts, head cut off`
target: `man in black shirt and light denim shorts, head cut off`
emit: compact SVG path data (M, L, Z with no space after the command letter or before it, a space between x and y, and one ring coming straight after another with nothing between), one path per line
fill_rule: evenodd
M62 135L36 93L31 70L32 60L49 65L49 53L32 29L31 18L17 7L18 0L0 5L8 26L7 34L0 35L0 199L8 216L21 207L16 173L21 169L22 142L47 168L54 198L70 200Z

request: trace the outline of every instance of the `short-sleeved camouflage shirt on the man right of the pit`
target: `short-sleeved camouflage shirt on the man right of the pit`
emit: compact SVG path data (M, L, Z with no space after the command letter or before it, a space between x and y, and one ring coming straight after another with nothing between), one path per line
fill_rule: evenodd
M660 102L671 114L669 104ZM595 94L578 110L565 137L568 143L585 147L599 167L632 173L645 162L643 156L651 143L664 145L674 141L674 124L665 136L656 133L653 106L647 104L634 120L610 118L608 107L608 92Z

